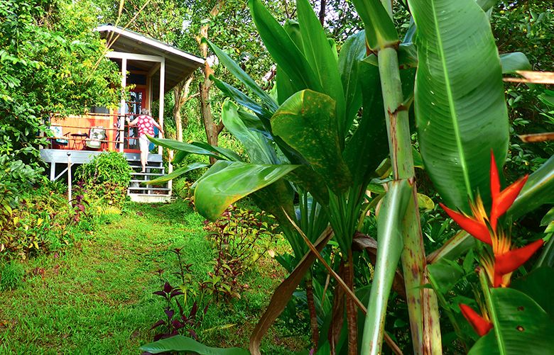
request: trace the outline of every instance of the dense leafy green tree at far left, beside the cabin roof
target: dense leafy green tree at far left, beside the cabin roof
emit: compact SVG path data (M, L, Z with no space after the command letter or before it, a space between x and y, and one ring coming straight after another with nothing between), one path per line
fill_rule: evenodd
M38 133L51 113L116 105L117 68L92 32L96 14L89 1L0 4L0 194L38 179Z

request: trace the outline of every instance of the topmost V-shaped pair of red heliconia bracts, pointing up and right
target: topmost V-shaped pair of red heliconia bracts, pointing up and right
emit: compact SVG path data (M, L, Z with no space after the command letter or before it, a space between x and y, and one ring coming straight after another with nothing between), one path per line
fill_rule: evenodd
M492 151L490 176L492 207L489 222L491 224L492 230L496 231L496 222L498 218L501 215L504 215L504 213L506 213L506 210L508 210L508 208L510 208L510 206L514 203L516 197L521 191L521 188L523 188L523 185L525 185L525 183L527 182L529 176L523 176L521 179L518 179L518 181L514 182L514 184L511 184L507 188L504 188L504 190L500 191L500 179L498 176L498 169L496 168L496 162L494 161L494 154L492 154Z

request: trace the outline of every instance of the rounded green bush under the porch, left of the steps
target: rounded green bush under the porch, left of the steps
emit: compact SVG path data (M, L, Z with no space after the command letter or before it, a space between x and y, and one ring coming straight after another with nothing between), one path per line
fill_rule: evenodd
M82 164L75 171L75 176L82 181L88 201L121 206L127 195L131 171L123 154L103 152L87 164Z

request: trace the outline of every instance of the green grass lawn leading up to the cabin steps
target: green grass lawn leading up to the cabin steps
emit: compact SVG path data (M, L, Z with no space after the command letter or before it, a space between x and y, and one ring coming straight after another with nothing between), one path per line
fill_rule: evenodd
M177 280L170 250L183 247L193 280L210 271L213 252L202 227L203 218L182 201L130 204L123 215L104 218L86 240L26 261L23 282L0 293L0 354L139 354L163 316L163 300L152 294L161 283L156 271ZM210 306L197 329L202 342L246 348L281 270L273 259L261 259L244 276L249 290L241 299ZM307 346L305 336L280 337L285 330L271 329L267 354Z

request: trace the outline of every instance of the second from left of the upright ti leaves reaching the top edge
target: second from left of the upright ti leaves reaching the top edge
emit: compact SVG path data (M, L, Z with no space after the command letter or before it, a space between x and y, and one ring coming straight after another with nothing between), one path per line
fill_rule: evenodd
M335 100L338 118L337 127L342 142L345 133L344 90L342 89L337 57L335 57L325 31L308 0L297 0L296 9L298 11L298 24L302 35L304 55L320 81L322 92Z

